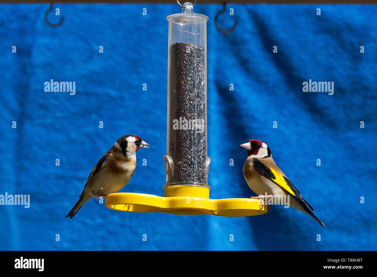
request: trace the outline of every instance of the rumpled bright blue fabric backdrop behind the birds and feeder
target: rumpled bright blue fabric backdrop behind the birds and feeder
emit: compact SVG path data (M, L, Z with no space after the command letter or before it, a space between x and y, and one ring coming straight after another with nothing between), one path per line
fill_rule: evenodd
M124 134L151 148L138 152L122 191L163 195L166 16L181 9L55 4L64 22L51 28L48 8L0 5L0 194L31 195L30 208L0 206L1 250L376 250L377 6L228 4L234 16L221 15L219 24L239 21L228 35L214 26L221 5L194 7L210 18L211 198L255 195L239 145L260 139L326 230L282 206L227 218L122 213L92 199L74 219L64 218L98 159ZM44 92L51 79L75 81L76 94ZM333 81L334 95L303 92L309 79Z

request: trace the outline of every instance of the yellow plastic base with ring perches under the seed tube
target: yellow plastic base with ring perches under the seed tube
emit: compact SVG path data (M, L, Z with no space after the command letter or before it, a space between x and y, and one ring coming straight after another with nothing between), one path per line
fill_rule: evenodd
M165 187L165 196L144 193L112 193L106 207L132 213L213 214L214 216L257 216L267 213L258 199L210 199L209 188L195 186Z

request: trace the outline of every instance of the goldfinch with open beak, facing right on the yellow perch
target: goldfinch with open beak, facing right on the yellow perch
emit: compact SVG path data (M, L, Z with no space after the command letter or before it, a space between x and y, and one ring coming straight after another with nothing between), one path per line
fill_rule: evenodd
M80 199L66 218L72 218L92 197L106 197L120 191L130 181L136 168L136 152L147 147L145 141L135 135L124 135L97 162L86 181Z

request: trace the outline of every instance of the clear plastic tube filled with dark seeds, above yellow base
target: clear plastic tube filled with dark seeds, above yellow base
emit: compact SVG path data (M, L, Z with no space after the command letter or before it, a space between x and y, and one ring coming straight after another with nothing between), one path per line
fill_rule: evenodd
M166 186L208 187L207 20L184 3L169 21Z

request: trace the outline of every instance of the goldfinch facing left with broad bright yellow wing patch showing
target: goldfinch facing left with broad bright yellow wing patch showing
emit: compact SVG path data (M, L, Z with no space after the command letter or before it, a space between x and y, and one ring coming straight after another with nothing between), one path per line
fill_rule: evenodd
M274 203L278 201L284 203L284 196L287 199L287 195L289 195L289 205L292 208L309 214L326 229L321 220L314 215L313 208L303 199L283 171L277 167L272 159L270 148L264 142L251 139L240 146L246 148L248 154L244 164L246 182L251 190L259 195L251 198L261 199L268 194L268 197L273 197Z

